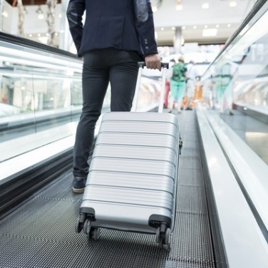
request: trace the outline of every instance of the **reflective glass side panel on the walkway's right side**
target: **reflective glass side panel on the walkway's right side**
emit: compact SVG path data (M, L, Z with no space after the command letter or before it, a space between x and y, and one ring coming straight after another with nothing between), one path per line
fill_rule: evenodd
M203 100L268 164L268 4L202 77ZM233 110L234 109L234 110ZM234 116L232 116L234 115Z

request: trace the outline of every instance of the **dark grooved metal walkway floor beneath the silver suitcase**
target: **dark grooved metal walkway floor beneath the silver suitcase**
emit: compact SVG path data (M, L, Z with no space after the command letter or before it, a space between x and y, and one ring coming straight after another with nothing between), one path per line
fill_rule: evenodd
M0 267L215 267L195 112L178 118L183 148L170 252L150 234L103 229L92 242L76 234L82 195L71 192L70 171L0 221Z

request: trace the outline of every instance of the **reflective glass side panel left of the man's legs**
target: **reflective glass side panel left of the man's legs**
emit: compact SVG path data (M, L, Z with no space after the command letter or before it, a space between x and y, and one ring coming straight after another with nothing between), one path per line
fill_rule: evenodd
M4 41L0 56L1 143L77 120L81 61Z

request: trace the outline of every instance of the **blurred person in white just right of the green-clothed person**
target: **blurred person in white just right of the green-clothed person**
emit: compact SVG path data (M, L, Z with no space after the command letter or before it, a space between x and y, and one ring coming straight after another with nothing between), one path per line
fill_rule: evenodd
M192 102L195 96L195 84L199 80L200 74L197 71L195 61L190 61L187 65L186 93L187 98L186 110L192 110Z

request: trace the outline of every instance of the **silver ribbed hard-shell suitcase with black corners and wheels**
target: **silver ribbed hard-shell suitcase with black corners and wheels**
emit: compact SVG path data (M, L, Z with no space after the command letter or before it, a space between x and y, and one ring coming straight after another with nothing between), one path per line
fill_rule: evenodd
M135 97L134 106L137 89ZM163 104L159 111L161 108ZM170 234L175 225L179 141L175 115L105 113L76 232L83 230L88 239L95 240L100 238L100 228L155 234L159 246L166 244L170 249Z

